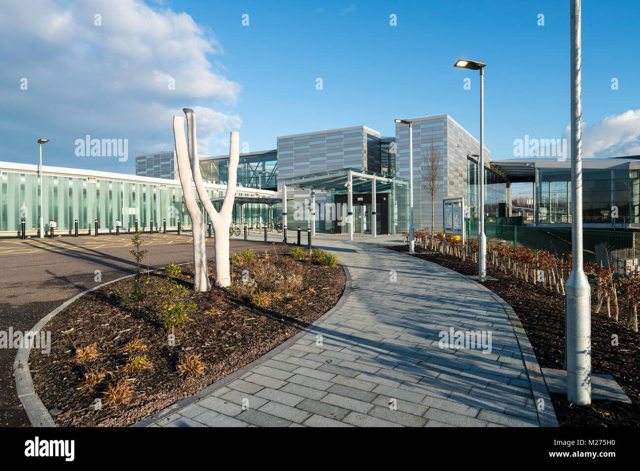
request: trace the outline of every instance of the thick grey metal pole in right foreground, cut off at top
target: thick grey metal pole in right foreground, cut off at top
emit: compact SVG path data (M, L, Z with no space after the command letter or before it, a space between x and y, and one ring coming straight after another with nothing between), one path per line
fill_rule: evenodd
M566 397L591 404L591 287L582 270L582 46L580 0L571 0L572 270L566 282Z

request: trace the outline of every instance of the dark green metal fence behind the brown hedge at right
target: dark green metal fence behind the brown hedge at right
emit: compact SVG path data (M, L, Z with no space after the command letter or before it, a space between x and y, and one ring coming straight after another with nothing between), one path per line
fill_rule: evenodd
M467 220L467 238L476 238L478 222ZM484 233L487 239L513 243L513 247L529 247L562 256L571 252L571 229L558 227L512 226L509 224L488 224L485 220ZM636 247L634 231L583 231L584 262L605 263L616 259L614 265L624 267L637 265L639 249ZM640 242L639 242L640 244Z

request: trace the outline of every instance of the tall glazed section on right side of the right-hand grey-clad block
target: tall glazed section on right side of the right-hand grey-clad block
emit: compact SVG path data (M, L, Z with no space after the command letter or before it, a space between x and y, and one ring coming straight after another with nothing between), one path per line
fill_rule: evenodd
M478 164L467 158L467 206L468 217L479 219L478 215ZM492 170L484 169L484 217L506 217L507 181Z

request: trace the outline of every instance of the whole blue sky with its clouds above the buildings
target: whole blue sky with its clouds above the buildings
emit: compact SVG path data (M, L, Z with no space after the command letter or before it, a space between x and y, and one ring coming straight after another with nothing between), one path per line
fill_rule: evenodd
M584 0L582 15L585 156L640 154L640 64L628 60L640 3ZM525 135L567 136L568 0L28 0L0 12L0 29L3 161L36 163L47 137L46 163L132 173L134 154L172 149L183 107L196 110L205 154L227 152L232 130L257 151L276 136L360 124L393 135L394 118L424 114L448 113L478 136L478 74L455 69L458 58L487 63L494 160L513 158ZM128 139L129 160L76 156L87 134Z

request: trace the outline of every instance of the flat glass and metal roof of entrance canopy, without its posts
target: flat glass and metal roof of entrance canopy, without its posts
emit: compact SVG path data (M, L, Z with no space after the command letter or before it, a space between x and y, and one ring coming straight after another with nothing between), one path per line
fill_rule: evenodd
M323 191L335 191L335 192L347 192L345 183L349 181L349 172L351 172L351 178L353 179L353 186L362 188L364 185L368 186L367 191L371 191L371 181L376 180L376 183L380 182L382 185L376 187L376 192L383 190L386 185L402 185L408 186L409 181L404 178L387 177L383 174L376 174L367 170L353 169L347 167L346 169L328 170L327 172L319 172L315 174L302 175L293 178L287 178L280 183L286 186L293 186L300 189L312 189ZM362 183L359 183L362 182Z

